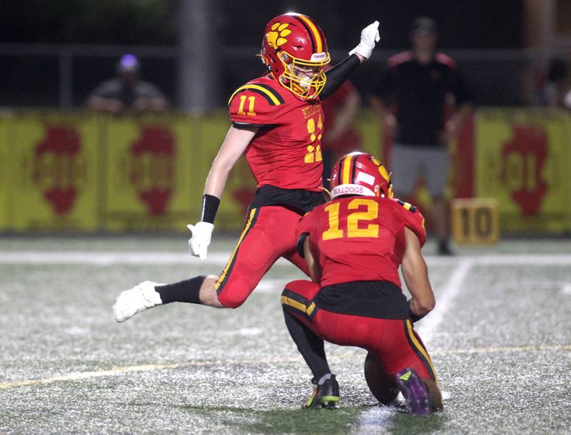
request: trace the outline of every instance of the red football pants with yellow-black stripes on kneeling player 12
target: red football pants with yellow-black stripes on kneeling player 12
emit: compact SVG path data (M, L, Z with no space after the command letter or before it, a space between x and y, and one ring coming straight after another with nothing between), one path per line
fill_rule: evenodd
M363 347L375 354L385 371L394 375L410 367L421 378L437 379L433 363L409 319L338 314L315 306L320 287L310 281L293 281L285 286L281 303L324 340L340 346Z

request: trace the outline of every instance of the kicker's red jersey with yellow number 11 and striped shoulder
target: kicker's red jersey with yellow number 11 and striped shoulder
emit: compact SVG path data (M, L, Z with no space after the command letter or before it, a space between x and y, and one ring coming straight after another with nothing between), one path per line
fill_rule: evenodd
M319 99L300 100L264 76L238 88L228 106L233 123L261 127L246 150L258 188L320 190L324 119Z

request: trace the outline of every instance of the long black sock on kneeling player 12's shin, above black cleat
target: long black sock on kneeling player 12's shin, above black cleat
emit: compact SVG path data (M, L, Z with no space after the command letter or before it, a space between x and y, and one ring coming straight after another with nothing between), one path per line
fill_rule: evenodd
M299 353L305 359L317 382L323 375L330 373L323 339L285 309L283 317L285 317L285 326L288 327L291 338L297 344Z

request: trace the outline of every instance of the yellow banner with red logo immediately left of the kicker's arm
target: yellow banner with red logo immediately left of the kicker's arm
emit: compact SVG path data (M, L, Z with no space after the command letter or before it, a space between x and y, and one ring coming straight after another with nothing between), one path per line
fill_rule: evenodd
M103 229L186 230L203 189L191 119L108 117L103 130Z

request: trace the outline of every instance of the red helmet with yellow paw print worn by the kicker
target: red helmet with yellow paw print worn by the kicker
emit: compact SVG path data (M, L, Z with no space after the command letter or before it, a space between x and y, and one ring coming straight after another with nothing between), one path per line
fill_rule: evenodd
M331 60L327 41L308 16L292 12L271 20L260 55L281 86L300 98L316 98L325 86L323 66Z

